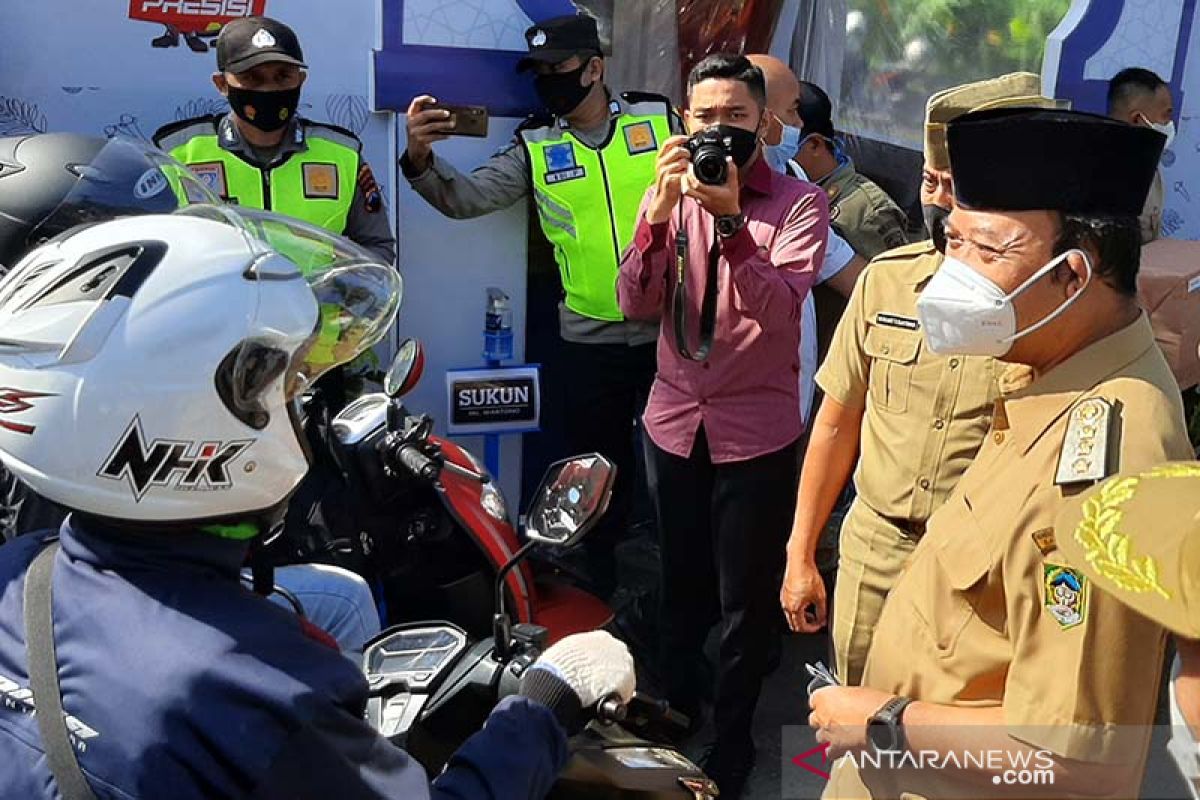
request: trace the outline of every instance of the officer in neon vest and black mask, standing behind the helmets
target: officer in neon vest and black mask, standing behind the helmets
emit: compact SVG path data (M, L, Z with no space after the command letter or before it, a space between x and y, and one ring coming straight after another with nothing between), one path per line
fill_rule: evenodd
M223 199L278 211L396 260L383 194L352 132L301 119L308 77L295 32L268 17L228 23L212 83L229 113L161 127L154 142Z

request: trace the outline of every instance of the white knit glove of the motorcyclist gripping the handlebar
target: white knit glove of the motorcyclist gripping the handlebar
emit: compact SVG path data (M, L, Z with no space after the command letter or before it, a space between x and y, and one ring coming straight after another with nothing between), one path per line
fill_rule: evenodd
M634 656L624 642L607 631L569 636L541 654L534 667L548 668L566 681L583 708L612 693L628 703L637 687Z

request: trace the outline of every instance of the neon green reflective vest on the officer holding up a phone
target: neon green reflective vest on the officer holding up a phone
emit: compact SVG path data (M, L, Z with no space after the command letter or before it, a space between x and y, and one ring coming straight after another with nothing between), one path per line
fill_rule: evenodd
M659 148L671 136L665 97L630 94L623 101L612 136L599 150L558 124L520 131L566 307L608 321L624 319L617 305L620 254L634 241Z

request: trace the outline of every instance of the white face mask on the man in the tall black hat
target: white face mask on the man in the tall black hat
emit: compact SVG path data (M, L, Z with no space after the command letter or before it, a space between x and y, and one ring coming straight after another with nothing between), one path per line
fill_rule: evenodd
M1070 253L1082 255L1087 265L1084 287L1040 321L1018 331L1013 301L1049 275ZM917 315L920 317L929 349L934 353L998 357L1008 353L1016 339L1057 319L1079 300L1091 282L1092 261L1080 249L1055 257L1007 295L979 272L947 255L917 299Z

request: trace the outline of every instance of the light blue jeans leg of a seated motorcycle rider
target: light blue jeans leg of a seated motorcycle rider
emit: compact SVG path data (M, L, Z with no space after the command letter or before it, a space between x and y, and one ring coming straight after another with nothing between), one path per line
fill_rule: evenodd
M337 639L342 651L354 658L379 633L379 612L371 588L349 570L328 564L293 564L276 567L275 583L292 593L304 606L308 621ZM278 593L270 600L293 609Z

